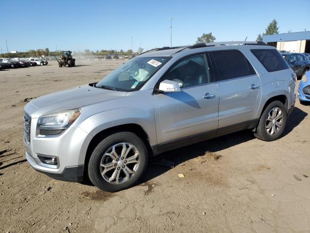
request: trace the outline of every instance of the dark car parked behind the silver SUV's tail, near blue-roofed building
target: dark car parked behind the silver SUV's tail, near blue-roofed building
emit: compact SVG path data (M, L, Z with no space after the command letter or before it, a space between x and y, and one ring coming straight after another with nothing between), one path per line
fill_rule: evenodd
M301 78L310 69L310 60L302 53L281 53L298 78Z

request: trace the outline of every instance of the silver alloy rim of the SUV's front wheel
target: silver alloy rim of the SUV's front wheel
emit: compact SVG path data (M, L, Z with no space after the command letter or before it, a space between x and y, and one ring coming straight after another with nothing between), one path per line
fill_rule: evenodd
M109 183L119 184L129 181L140 165L140 153L130 143L118 143L111 146L102 155L100 173Z

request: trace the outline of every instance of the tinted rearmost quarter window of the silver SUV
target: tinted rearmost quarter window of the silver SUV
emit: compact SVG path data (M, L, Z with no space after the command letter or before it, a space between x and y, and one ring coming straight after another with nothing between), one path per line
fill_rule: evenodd
M251 52L262 63L263 67L265 67L268 72L274 72L289 68L286 61L281 56L278 50L256 49L251 50Z

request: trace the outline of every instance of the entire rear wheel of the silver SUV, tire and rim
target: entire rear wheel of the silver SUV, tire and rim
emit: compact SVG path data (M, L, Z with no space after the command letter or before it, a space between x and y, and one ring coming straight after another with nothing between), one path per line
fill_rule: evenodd
M280 101L271 102L263 111L255 137L263 141L277 140L284 131L287 113L285 106Z

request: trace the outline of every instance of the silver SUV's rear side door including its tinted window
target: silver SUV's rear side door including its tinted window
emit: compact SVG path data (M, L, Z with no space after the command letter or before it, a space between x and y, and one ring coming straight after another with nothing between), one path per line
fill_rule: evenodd
M247 128L262 97L260 77L239 50L212 51L219 92L218 133Z

